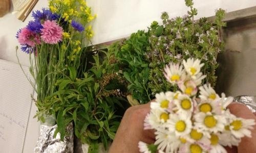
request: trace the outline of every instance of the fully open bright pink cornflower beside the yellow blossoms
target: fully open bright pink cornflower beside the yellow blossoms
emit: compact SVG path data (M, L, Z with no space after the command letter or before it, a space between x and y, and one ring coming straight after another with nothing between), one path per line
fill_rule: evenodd
M55 21L46 20L42 27L41 38L46 43L56 44L62 40L62 27L59 27Z

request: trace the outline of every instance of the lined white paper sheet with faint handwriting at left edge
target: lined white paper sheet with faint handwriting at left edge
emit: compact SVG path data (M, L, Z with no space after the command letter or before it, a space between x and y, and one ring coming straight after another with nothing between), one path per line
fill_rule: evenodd
M0 152L23 152L32 93L19 65L0 60Z

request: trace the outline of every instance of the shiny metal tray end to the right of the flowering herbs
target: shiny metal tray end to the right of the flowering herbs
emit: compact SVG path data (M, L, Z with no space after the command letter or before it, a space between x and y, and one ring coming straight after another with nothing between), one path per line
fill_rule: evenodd
M217 58L216 90L226 95L256 95L256 7L227 13L226 52Z

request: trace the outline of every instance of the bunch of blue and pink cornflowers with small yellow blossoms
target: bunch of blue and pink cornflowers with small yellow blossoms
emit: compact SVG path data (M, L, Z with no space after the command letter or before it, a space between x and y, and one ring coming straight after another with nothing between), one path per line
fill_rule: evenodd
M56 82L69 73L75 79L84 47L93 36L88 23L95 16L83 0L50 0L50 9L34 11L34 20L17 32L21 50L30 55L31 85L37 93L37 116L44 122L45 115L54 115L46 97L57 90ZM65 83L61 83L62 85Z

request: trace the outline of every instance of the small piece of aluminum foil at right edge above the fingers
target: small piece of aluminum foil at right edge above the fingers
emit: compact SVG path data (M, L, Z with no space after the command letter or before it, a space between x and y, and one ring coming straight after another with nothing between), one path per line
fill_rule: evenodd
M237 96L234 101L246 105L253 113L256 112L256 96Z

